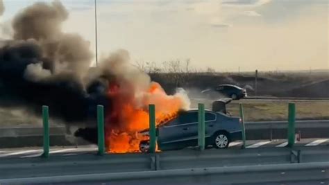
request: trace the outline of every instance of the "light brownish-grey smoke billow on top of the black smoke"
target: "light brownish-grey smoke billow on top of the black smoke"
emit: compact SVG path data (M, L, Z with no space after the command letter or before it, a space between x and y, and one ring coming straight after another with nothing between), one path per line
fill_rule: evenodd
M41 57L47 59L44 63L51 74L72 73L83 78L93 55L89 42L80 35L62 33L62 23L68 16L69 13L60 1L35 3L15 16L12 21L13 38L34 39L35 44L42 48Z

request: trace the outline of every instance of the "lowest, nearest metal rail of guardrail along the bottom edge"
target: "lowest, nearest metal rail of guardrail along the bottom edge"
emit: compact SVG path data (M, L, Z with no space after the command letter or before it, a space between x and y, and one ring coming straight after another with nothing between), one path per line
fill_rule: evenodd
M261 183L326 180L329 179L327 170L329 170L329 162L29 177L0 179L0 183L111 182L111 184L136 184L145 181L149 184Z

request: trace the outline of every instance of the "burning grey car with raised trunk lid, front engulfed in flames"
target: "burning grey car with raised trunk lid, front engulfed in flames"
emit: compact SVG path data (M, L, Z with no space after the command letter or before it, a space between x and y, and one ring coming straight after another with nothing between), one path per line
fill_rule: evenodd
M241 139L242 128L239 118L231 116L226 111L226 105L230 103L231 98L222 98L212 103L212 111L205 110L205 144L214 148L227 148L230 142ZM143 114L144 115L144 114ZM136 121L144 121L144 119ZM148 115L146 114L146 120ZM160 117L157 119L156 132L158 136L159 150L178 150L187 147L197 146L198 140L198 110L182 110L177 114L169 116L165 119ZM125 133L125 132L124 132ZM131 132L135 137L126 142L124 136L127 134L117 134L110 132L113 137L118 139L110 142L112 148L109 152L148 152L149 151L149 129L143 129L139 132ZM76 130L74 133L77 137L97 143L96 127L86 127ZM125 141L125 142L123 142ZM129 147L133 150L114 150L117 148ZM133 146L133 147L131 147ZM136 149L135 150L135 146Z

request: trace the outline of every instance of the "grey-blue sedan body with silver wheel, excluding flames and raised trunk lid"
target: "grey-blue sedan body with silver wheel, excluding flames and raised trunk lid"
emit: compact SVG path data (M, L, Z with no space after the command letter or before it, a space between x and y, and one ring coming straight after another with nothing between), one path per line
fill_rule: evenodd
M142 134L149 134L145 130ZM198 145L198 110L180 112L178 116L157 128L158 148L177 150ZM231 141L241 139L242 129L238 117L220 112L205 111L205 145L227 148ZM149 141L140 143L140 150L149 150Z

